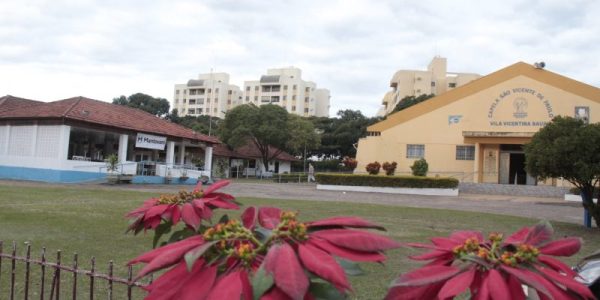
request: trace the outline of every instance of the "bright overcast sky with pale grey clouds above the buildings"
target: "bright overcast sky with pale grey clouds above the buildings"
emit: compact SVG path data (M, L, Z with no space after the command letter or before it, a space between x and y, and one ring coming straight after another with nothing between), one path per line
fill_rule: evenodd
M199 73L295 66L375 115L399 69L482 75L517 61L600 86L600 1L0 0L0 95L169 101Z

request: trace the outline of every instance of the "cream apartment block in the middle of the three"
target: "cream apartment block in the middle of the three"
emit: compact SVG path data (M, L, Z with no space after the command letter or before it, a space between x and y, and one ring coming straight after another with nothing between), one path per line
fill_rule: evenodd
M294 67L268 69L260 80L244 81L243 104L275 104L303 117L328 117L329 101L329 90L303 80L302 70Z

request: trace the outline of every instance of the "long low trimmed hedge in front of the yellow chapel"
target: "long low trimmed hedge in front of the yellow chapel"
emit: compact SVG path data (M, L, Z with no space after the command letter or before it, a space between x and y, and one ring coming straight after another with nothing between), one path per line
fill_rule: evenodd
M458 179L448 177L378 176L317 173L315 175L315 178L317 179L318 184L327 185L440 189L454 189L458 187Z

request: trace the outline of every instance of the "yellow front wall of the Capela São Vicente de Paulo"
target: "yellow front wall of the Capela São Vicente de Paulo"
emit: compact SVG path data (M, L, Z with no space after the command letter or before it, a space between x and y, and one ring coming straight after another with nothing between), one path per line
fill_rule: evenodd
M464 88L467 90L471 84ZM461 89L462 87L448 93L460 93ZM569 92L530 76L513 76L456 101L448 101L446 105L435 107L435 101L438 98L441 99L438 101L443 101L444 95L426 101L432 101L427 104L433 108L429 112L423 113L419 108L402 111L398 114L404 115L396 116L395 119L401 120L398 124L374 125L373 128L383 130L380 136L368 136L359 141L356 172L365 172L366 164L373 161L396 161L397 173L410 173L414 159L406 158L407 144L424 144L429 176L439 174L466 182L498 182L498 144L522 144L552 117L574 116L576 106L589 107L590 122L600 122L600 92L597 95L592 93L595 99L590 100L581 96L581 93ZM410 116L410 113L417 115ZM381 123L384 122L390 120ZM504 133L508 137L465 138L463 132ZM456 160L457 145L476 143L479 143L477 164L474 160ZM490 153L493 158L489 157Z

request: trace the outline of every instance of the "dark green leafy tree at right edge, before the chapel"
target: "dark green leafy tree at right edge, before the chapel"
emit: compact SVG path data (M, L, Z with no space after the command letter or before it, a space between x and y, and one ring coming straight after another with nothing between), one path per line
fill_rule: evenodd
M579 188L583 207L600 228L600 207L592 200L600 179L600 124L558 116L524 148L527 172L541 180L562 177Z

